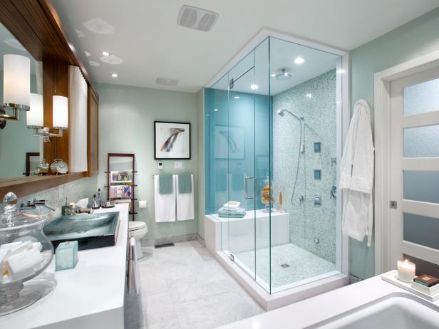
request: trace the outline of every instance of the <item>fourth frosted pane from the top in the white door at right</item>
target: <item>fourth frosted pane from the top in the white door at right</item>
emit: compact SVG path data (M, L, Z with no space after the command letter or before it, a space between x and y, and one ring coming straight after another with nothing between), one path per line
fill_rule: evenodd
M403 213L404 240L439 249L439 219Z

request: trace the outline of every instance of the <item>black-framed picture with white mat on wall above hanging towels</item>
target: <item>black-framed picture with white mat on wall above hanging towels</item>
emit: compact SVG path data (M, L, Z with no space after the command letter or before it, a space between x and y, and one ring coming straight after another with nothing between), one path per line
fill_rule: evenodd
M190 123L154 121L154 159L190 159Z

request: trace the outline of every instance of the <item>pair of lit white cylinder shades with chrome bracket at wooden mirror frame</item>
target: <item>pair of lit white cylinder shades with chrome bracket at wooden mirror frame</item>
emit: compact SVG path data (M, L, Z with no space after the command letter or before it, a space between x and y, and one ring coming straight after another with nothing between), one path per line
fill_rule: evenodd
M31 110L26 115L26 125L33 129L34 136L43 137L43 142L50 142L51 137L62 137L63 130L68 129L68 98L53 96L52 121L53 129L43 127L43 95L31 94Z

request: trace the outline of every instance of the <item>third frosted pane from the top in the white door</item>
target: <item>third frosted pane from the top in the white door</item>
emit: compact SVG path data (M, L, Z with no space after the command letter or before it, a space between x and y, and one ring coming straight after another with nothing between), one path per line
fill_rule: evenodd
M439 203L439 172L404 172L404 199Z

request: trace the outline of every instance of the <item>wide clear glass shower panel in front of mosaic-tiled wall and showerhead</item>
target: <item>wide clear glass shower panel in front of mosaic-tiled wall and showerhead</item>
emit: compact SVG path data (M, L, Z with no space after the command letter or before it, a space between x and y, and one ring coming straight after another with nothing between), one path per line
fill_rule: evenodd
M270 39L272 177L275 206L284 211L272 213L272 293L336 271L336 199L330 192L336 186L331 160L337 145L337 61L339 56L324 51Z

